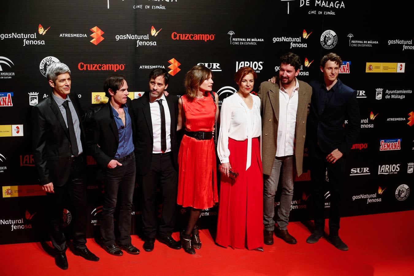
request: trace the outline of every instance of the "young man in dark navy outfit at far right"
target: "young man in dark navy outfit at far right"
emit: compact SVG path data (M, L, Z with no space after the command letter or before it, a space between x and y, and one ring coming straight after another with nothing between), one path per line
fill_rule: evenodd
M345 157L361 128L356 91L338 79L342 59L335 53L323 56L320 70L324 82L312 81L307 124L308 152L315 204L315 231L306 242L323 237L325 227L325 173L329 178L329 241L339 250L348 246L339 238L339 205L345 178ZM344 122L347 124L344 126Z

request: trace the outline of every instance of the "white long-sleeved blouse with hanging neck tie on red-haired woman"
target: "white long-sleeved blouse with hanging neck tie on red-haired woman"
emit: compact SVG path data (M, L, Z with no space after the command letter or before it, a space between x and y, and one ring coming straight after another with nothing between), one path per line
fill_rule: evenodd
M260 98L253 98L252 109L249 109L237 93L225 98L220 110L220 132L217 142L217 154L221 163L229 162L229 138L237 141L247 139L246 170L250 167L252 156L252 138L262 134L262 118L260 117Z

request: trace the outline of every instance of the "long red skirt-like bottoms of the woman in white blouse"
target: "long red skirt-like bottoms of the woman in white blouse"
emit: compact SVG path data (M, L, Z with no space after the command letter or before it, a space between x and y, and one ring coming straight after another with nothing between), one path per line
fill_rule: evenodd
M246 170L247 140L229 138L229 161L238 172L234 182L221 175L216 242L248 250L263 246L263 170L259 139L252 139L252 161Z

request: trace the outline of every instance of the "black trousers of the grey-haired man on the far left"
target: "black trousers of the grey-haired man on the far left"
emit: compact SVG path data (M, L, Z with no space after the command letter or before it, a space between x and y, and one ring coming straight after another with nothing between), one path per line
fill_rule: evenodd
M70 164L70 175L65 185L53 187L54 193L47 193L49 231L51 242L55 251L65 252L66 238L63 233L63 210L67 197L70 198L74 209L68 210L67 221L73 224L74 239L73 247L76 249L86 248L86 185L84 182L85 163L84 156L79 155Z

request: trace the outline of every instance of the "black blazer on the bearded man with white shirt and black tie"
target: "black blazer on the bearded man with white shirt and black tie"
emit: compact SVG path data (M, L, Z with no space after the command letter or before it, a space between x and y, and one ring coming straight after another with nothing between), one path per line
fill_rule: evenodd
M174 168L178 170L178 97L171 95L166 97L171 116L171 152L174 159ZM152 132L151 110L149 108L149 92L132 101L132 112L135 124L135 160L137 163L137 175L146 175L151 165L154 134Z

